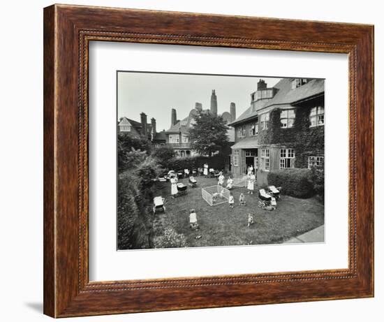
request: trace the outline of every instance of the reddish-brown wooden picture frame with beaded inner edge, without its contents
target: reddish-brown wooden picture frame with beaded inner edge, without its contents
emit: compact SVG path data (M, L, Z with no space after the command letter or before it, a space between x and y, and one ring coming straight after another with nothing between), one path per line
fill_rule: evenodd
M346 53L348 269L89 282L88 45ZM374 296L374 27L54 5L44 9L44 313L53 317Z

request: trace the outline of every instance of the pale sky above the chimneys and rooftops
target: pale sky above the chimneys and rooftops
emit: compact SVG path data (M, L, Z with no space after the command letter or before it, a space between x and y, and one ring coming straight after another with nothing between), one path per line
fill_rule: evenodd
M281 78L263 77L268 87ZM119 71L117 74L117 117L128 117L140 122L140 113L147 114L147 122L154 117L158 132L168 130L171 109L177 119L184 119L195 102L203 109L211 105L212 89L216 90L217 112L230 112L230 103L236 104L236 117L251 103L251 93L256 91L259 77L228 75L196 75L175 73L140 73Z

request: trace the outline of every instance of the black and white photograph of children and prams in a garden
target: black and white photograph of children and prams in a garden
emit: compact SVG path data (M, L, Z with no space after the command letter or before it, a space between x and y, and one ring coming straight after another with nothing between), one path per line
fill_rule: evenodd
M117 249L325 242L325 79L117 71Z

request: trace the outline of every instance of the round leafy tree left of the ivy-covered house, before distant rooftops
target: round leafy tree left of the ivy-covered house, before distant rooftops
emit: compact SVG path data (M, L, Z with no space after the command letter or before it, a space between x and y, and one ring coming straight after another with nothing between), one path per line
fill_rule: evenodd
M195 116L195 124L189 130L192 149L200 154L212 156L212 152L228 145L228 129L221 116L199 111Z

